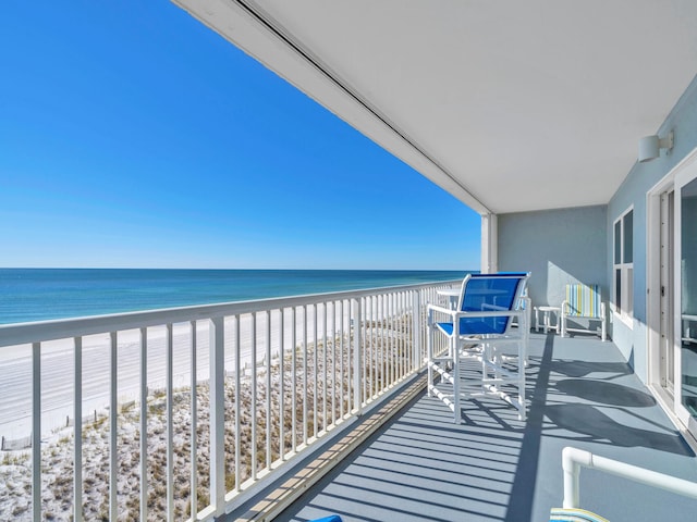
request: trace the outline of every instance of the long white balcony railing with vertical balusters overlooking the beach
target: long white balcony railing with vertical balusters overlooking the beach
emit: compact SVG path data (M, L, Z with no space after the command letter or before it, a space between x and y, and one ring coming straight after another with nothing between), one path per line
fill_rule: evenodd
M3 451L0 519L231 511L423 366L453 283L0 326L28 447Z

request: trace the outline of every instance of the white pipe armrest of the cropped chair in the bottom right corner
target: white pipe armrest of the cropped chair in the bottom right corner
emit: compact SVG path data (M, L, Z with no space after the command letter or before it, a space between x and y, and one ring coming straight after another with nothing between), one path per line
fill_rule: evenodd
M598 457L583 449L566 447L562 451L564 470L564 508L579 508L578 477L580 467L600 470L640 484L665 489L685 497L697 498L697 484L617 460Z

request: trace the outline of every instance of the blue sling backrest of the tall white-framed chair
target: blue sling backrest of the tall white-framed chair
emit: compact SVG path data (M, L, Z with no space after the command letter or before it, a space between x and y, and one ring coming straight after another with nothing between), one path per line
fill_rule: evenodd
M516 310L525 285L530 276L526 272L503 272L497 274L468 274L462 282L457 310L462 312L492 312ZM503 334L511 324L512 316L463 318L461 332Z

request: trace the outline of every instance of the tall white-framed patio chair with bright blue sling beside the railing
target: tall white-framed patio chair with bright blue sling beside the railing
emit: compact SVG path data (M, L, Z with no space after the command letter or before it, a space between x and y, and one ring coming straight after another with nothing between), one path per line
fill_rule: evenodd
M521 307L529 273L469 274L462 282L455 310L428 306L428 394L462 420L461 400L480 395L502 398L525 420L525 359L529 327ZM515 320L515 321L514 321ZM513 328L513 323L517 327ZM438 334L438 335L437 335ZM514 357L502 347L517 348ZM472 361L475 371L472 371ZM465 369L465 361L469 362ZM452 395L435 383L450 383ZM517 398L510 386L517 388ZM474 388L474 389L473 389Z

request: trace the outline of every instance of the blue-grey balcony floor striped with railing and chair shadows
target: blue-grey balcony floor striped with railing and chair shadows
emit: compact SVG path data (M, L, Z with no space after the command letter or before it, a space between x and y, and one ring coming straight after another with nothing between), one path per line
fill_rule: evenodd
M528 419L496 399L463 423L421 393L277 521L543 521L563 498L561 452L594 453L697 481L694 453L612 343L530 338ZM633 521L695 520L697 502L582 471L585 509Z

